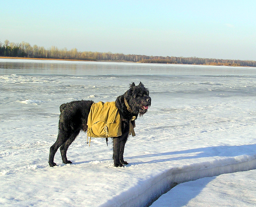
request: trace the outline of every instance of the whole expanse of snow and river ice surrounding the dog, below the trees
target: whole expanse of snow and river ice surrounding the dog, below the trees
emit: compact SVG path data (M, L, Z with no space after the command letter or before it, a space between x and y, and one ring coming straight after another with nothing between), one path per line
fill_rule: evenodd
M89 147L80 133L73 164L58 150L50 168L59 106L114 101L132 81L149 88L152 105L125 146L129 165L115 168L111 145L92 138ZM0 59L0 86L3 206L146 206L176 183L167 206L223 206L225 193L230 206L256 199L255 170L212 177L256 169L255 68Z

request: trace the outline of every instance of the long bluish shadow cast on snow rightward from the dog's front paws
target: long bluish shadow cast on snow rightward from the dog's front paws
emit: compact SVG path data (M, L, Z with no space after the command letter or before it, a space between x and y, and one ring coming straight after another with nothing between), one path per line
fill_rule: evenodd
M202 157L237 157L244 154L254 154L256 152L256 144L239 145L239 146L211 146L200 147L196 149L181 150L175 152L164 152L155 154L145 154L141 156L126 157L131 159L131 165L158 163L173 160L196 159ZM177 156L181 155L181 156ZM169 158L168 158L169 157ZM138 158L147 158L145 161L132 161ZM152 159L151 159L152 158Z

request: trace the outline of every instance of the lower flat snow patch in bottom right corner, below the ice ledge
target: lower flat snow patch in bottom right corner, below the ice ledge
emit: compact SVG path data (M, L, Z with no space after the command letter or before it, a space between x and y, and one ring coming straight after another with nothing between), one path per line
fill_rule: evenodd
M256 170L181 183L150 207L255 207Z

